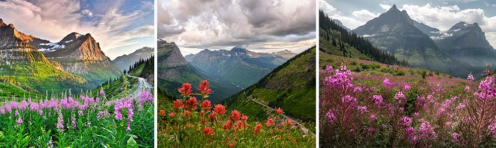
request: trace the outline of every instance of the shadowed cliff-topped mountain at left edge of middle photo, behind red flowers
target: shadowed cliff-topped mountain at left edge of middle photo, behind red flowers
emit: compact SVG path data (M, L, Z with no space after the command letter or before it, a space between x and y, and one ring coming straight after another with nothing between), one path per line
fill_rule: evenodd
M242 90L229 82L210 79L200 74L197 69L186 62L176 43L167 42L160 38L158 38L157 43L159 96L165 96L164 98L159 98L159 100L182 98L178 93L178 88L183 83L191 83L194 87L197 87L202 80L210 81L210 87L215 91L215 94L209 97L212 103L220 102Z

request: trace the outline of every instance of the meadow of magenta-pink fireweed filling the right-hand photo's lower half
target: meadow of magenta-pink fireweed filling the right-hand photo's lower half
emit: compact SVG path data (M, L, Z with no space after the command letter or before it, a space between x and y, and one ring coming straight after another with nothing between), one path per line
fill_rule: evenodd
M320 80L320 147L494 147L496 85L426 76L363 75L344 64Z

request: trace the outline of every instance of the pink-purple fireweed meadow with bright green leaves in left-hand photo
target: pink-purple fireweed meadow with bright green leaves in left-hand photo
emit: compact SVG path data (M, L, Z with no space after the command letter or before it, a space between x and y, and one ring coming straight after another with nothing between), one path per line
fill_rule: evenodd
M154 103L141 97L107 100L62 94L0 106L0 148L143 148L153 147Z

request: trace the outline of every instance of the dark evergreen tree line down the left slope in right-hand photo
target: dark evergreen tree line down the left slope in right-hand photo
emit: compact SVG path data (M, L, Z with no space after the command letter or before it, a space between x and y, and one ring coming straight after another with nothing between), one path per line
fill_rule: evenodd
M325 14L323 10L319 10L318 17L319 28L326 32L326 35L324 35L324 37L327 40L332 41L334 46L340 47L340 49L343 51L344 56L346 56L346 51L343 43L341 42L340 44L338 44L337 37L333 37L332 34L331 36L329 36L330 31L334 30L340 32L341 41L349 44L350 46L353 46L355 49L360 51L360 53L372 58L373 61L384 64L408 66L407 61L398 60L394 55L383 52L377 47L374 47L367 38L358 36L356 33L353 32L348 32L346 29L332 21L331 18L327 14Z

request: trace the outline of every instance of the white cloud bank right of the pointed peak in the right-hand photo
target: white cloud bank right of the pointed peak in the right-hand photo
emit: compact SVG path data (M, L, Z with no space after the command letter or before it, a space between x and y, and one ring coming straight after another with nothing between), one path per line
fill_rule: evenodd
M491 45L496 45L496 16L486 16L483 9L461 10L457 5L432 6L430 3L424 6L405 4L403 9L408 12L412 19L439 30L448 30L460 21L470 24L478 23L481 29L486 32L486 37Z

